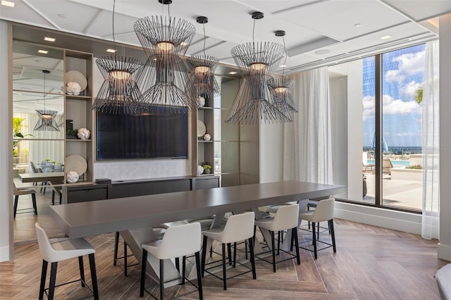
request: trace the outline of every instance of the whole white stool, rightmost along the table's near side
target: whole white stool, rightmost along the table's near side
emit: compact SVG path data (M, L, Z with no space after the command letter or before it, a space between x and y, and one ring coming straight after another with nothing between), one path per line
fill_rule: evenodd
M333 247L333 252L334 253L337 252L337 249L335 246L335 231L333 229L334 206L335 206L335 199L333 199L333 198L324 199L324 200L319 201L319 203L316 206L316 209L314 211L304 211L302 213L299 213L299 218L301 218L302 220L307 220L308 222L311 222L311 232L312 232L312 240L313 240L313 246L314 246L313 252L314 252L315 259L318 258L317 252L319 250ZM316 223L320 223L320 222L324 222L324 221L328 221L330 235L332 236L332 244L329 244L328 242L323 242L316 238ZM306 242L310 242L310 241L304 241L304 242L301 242L300 244L303 244ZM321 249L317 249L316 242L321 242L328 246L323 247ZM307 246L306 247L299 246L299 248L312 251Z

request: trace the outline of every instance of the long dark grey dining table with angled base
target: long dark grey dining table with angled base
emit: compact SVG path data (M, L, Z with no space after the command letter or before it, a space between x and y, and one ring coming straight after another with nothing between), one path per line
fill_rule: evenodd
M204 218L206 215L248 211L260 206L283 204L345 192L340 185L283 181L234 187L217 187L187 192L153 194L119 199L87 201L51 206L51 215L71 238L121 232L138 261L141 245L155 240L152 227L179 220ZM147 228L147 230L141 230ZM141 261L140 261L141 263ZM149 257L148 273L156 280L158 261ZM178 276L175 268L165 280Z

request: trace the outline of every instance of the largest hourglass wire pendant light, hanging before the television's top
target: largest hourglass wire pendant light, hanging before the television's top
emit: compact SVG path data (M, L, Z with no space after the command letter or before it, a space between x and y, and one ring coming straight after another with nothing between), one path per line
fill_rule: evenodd
M159 0L161 4L171 4L171 0ZM147 61L140 71L140 90L142 101L149 106L151 113L165 111L186 113L196 109L199 104L185 92L190 73L184 62L188 46L196 29L192 23L183 19L154 15L140 18L133 25Z

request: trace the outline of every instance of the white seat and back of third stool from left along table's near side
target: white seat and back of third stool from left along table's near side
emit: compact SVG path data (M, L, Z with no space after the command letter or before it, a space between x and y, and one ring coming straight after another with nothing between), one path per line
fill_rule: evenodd
M274 218L256 220L255 225L270 231L288 230L297 227L299 205L290 204L280 206Z

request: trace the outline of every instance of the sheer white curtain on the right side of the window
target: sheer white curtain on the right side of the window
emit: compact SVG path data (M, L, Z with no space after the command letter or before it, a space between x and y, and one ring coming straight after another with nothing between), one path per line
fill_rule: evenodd
M426 43L423 84L423 220L421 237L438 239L439 234L439 153L438 144L438 41Z

